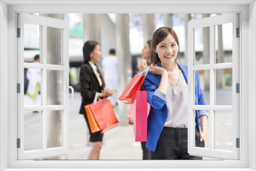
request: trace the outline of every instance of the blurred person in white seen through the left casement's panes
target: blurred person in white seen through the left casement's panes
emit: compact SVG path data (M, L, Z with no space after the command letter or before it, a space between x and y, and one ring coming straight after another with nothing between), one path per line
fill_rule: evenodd
M34 56L33 63L40 63L39 55ZM40 105L37 100L37 95L40 90L41 70L29 68L27 70L26 77L29 81L26 95L31 99L30 105ZM34 111L33 113L37 113L37 111Z

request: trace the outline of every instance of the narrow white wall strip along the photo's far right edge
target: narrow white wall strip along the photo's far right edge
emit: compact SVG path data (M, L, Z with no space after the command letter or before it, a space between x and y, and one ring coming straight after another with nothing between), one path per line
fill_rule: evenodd
M249 135L249 168L256 170L256 126L255 126L255 114L256 114L256 91L255 91L255 78L256 78L256 3L253 2L249 5L249 112L253 115L249 117L249 129L254 130L253 135Z

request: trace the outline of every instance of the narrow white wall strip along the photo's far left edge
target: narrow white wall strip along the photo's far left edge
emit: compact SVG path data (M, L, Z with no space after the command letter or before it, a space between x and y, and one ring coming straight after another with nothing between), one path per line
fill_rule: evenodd
M7 48L8 8L0 2L0 170L7 168Z

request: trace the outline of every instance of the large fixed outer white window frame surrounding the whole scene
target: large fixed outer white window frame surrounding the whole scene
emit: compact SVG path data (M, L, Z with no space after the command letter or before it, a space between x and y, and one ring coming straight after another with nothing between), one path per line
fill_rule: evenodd
M67 3L68 2L68 3ZM189 2L189 4L188 4ZM0 64L0 99L1 99L1 127L0 127L0 167L7 170L92 170L90 168L112 168L109 170L121 170L120 168L130 168L130 170L177 170L175 168L184 168L184 170L255 170L255 125L256 125L256 5L255 1L211 1L207 5L205 1L84 1L70 2L61 1L69 5L52 5L58 4L58 1L2 1L0 2L0 35L1 35L1 64ZM43 5L22 5L28 3L37 3ZM50 4L51 3L51 4ZM79 5L70 5L80 3ZM206 5L202 5L206 3ZM217 4L221 3L221 4ZM230 5L230 3L237 3ZM7 5L8 4L8 5ZM14 4L14 5L11 5ZM16 4L16 5L15 5ZM81 5L82 4L82 5ZM160 4L160 5L159 5ZM194 5L191 5L194 4ZM216 5L217 4L217 5ZM17 12L35 12L35 13L222 13L238 12L240 13L240 160L223 160L223 161L17 161L16 149L16 68L17 57L16 49L16 13ZM2 15L4 14L4 15ZM8 22L7 22L8 16ZM3 25L2 25L3 23ZM8 36L6 36L8 34ZM250 36L249 36L250 35ZM249 39L250 37L250 39ZM5 43L8 42L8 45ZM8 47L8 51L6 50ZM3 57L4 55L4 57ZM8 58L6 57L8 55ZM7 65L8 67L5 67ZM250 70L248 69L250 68ZM8 72L6 72L6 70ZM7 74L6 74L7 73ZM6 89L8 92L6 93ZM250 90L250 93L248 93ZM4 100L8 99L8 102ZM250 100L249 100L250 99ZM5 106L7 105L7 107ZM6 134L6 130L8 134ZM250 136L249 136L250 134ZM250 142L250 143L249 143ZM6 146L8 148L6 149ZM250 149L250 150L249 150ZM124 154L125 155L125 154ZM6 156L7 159L6 159ZM99 164L100 163L100 164ZM71 168L73 167L73 168ZM86 169L86 168L88 169ZM153 169L145 169L150 167ZM209 168L211 167L211 169ZM20 168L20 169L19 169ZM51 169L52 168L52 169ZM54 169L55 168L55 169ZM67 169L71 168L71 169ZM77 168L77 169L75 169ZM79 169L84 168L84 169ZM144 168L144 169L143 169ZM164 169L169 168L169 169ZM172 169L173 168L173 169ZM200 169L201 168L201 169ZM60 169L61 170L61 169ZM182 170L182 169L179 169Z

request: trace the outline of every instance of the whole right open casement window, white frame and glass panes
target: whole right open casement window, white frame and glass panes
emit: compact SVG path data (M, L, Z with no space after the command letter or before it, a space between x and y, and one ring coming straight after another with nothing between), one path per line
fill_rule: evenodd
M239 36L239 14L222 14L188 23L190 155L239 159ZM203 46L199 44L200 38ZM197 49L203 51L201 62L197 58ZM199 91L197 72L206 105L195 103L195 92ZM195 117L196 111L200 110L208 112L205 147L196 145Z

